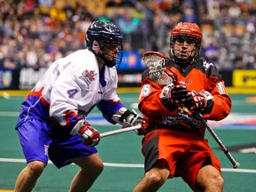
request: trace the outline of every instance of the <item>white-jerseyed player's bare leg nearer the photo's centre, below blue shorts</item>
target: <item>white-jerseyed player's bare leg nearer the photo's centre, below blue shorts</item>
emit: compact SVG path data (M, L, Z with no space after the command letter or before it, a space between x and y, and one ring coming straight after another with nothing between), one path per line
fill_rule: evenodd
M92 187L93 182L98 178L100 172L103 171L103 162L98 153L91 156L81 156L71 159L74 164L77 164L81 170L76 173L76 176L71 182L69 191L87 191Z

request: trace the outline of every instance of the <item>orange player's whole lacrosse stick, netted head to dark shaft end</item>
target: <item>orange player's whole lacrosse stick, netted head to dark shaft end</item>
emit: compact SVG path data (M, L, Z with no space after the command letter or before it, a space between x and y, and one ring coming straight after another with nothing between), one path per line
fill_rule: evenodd
M164 54L161 52L145 52L142 56L142 61L146 64L149 69L149 76L150 78L155 81L157 84L175 84L177 79L175 76L169 76L168 72L166 73L166 64L164 60ZM173 73L173 72L172 72ZM174 79L173 79L174 78ZM179 107L181 113L184 111L188 111L188 108ZM239 166L239 163L236 162L235 158L230 154L228 148L221 142L218 135L212 130L212 128L207 124L206 120L203 118L201 114L198 114L198 117L203 121L205 124L206 129L211 133L213 139L218 143L221 150L224 154L228 157L228 160L233 164L233 168L236 169Z

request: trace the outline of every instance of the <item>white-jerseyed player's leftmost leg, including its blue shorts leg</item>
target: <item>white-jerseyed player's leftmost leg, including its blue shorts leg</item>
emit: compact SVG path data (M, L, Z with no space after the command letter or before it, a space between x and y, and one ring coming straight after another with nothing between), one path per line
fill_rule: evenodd
M44 172L48 162L48 146L52 142L43 131L46 129L47 124L36 119L30 119L18 127L20 144L28 164L16 180L15 192L32 191L36 180Z

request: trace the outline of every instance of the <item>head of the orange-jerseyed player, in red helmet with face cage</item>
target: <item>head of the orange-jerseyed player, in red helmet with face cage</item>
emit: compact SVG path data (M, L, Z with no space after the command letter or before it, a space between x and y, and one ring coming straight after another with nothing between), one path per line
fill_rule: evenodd
M202 37L201 30L195 23L178 23L171 32L171 59L185 66L194 63L199 59Z

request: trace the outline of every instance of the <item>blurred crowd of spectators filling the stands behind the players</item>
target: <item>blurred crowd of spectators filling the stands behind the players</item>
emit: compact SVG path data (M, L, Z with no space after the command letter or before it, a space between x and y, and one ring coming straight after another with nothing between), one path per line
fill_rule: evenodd
M169 52L170 31L196 22L202 56L222 70L256 69L256 0L0 0L0 68L48 68L86 47L93 20L124 32L124 51Z

